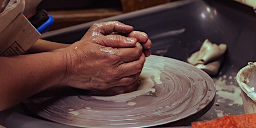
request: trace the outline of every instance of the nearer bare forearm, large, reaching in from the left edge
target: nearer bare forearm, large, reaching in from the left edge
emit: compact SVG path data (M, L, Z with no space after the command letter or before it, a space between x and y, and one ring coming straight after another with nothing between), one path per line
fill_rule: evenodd
M61 51L0 57L0 111L60 83L66 71Z

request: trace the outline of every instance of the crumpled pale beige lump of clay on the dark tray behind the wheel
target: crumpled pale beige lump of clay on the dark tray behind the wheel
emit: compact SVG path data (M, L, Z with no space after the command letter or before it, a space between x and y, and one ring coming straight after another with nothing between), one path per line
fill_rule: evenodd
M216 45L206 39L200 50L194 52L188 58L188 62L205 71L210 76L215 76L219 72L219 67L223 61L223 55L226 50L227 45L224 43Z

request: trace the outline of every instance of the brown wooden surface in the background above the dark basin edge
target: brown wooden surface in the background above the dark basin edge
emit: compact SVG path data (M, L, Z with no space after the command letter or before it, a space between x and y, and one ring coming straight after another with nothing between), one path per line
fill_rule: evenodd
M170 0L44 0L37 9L46 9L55 19L50 29L53 30L168 2Z

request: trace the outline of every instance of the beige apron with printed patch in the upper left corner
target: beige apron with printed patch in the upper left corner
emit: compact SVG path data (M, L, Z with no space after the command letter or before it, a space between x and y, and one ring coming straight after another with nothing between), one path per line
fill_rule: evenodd
M0 0L0 56L22 55L41 38L41 34L26 18L40 2Z

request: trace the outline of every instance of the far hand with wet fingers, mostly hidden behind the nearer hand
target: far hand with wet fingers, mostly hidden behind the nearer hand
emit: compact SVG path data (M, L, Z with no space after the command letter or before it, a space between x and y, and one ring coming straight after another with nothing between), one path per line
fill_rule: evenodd
M101 22L94 23L85 35L81 38L81 40L86 40L88 38L100 37L112 35L113 38L119 38L121 36L131 37L135 39L137 42L140 42L143 48L143 52L146 57L150 56L151 51L151 41L149 40L147 34L145 32L134 31L132 26L126 25L119 21L110 21L110 22ZM117 42L114 42L117 43ZM115 46L116 44L114 44ZM109 45L107 47L113 47ZM121 47L121 46L119 46ZM130 47L130 44L122 45L122 47Z

